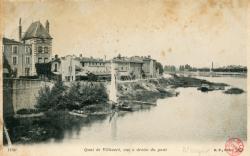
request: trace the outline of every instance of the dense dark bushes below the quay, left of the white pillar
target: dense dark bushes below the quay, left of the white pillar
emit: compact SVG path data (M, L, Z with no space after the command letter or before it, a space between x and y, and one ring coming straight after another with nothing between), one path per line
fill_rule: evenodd
M52 89L44 87L39 91L36 107L48 109L80 109L91 104L100 104L108 100L106 88L102 83L72 83L68 89L57 82Z

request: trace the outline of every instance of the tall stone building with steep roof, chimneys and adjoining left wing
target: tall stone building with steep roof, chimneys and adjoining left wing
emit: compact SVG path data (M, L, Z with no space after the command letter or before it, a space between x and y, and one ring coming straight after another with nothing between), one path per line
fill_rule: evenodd
M3 38L3 53L16 76L34 76L36 63L47 63L52 55L52 37L49 34L49 22L45 27L36 21L22 33L19 20L19 41Z

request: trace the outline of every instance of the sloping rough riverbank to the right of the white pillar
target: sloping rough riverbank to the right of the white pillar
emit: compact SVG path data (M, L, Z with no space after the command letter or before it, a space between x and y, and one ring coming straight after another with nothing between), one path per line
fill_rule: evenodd
M172 75L170 78L124 82L118 84L118 97L120 101L144 101L155 103L159 98L178 96L178 87L201 87L207 84L212 90L224 90L225 83L213 83L193 77Z

